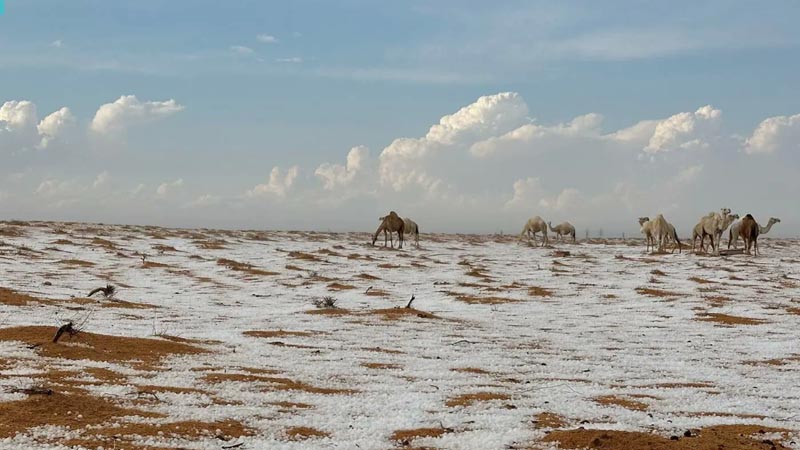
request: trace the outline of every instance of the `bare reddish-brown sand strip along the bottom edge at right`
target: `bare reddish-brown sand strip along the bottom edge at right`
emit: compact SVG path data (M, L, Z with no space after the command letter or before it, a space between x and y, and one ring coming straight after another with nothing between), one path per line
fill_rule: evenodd
M760 434L786 430L758 425L721 425L703 428L692 437L673 439L652 433L614 430L553 431L544 442L557 442L562 449L602 448L605 450L789 450L775 442L765 442ZM755 437L753 437L755 435Z

